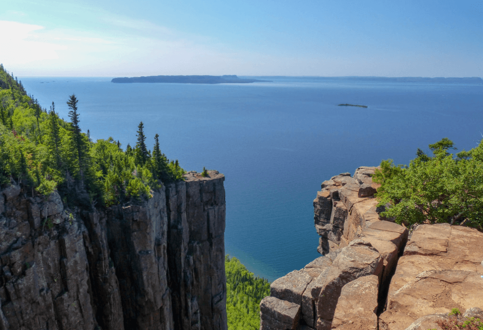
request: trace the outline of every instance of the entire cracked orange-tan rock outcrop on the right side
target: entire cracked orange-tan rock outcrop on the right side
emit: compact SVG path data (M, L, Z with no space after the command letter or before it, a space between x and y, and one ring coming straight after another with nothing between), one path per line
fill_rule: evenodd
M313 205L323 256L272 283L261 330L438 329L452 308L483 317L483 233L420 225L409 237L376 212L374 171L322 183Z

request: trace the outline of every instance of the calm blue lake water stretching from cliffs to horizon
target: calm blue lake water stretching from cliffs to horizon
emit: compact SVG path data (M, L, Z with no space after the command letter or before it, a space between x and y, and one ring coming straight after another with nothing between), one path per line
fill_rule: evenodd
M91 138L148 145L185 170L223 173L226 253L270 281L319 256L312 200L320 183L382 159L408 163L443 137L461 149L483 132L483 85L314 77L254 84L113 84L110 78L19 77L68 120L79 100ZM267 78L267 77L265 77ZM339 107L361 104L368 108ZM152 146L151 146L152 148Z

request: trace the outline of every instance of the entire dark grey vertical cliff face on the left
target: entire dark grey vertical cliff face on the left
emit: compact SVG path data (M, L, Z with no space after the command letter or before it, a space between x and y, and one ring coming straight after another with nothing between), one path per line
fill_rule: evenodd
M69 213L0 192L0 329L225 330L224 176L185 179Z

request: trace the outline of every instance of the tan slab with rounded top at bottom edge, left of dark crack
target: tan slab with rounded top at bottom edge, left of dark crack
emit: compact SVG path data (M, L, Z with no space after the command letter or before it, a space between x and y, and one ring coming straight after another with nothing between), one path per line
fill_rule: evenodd
M375 275L360 277L346 284L337 303L332 329L376 330L379 279Z

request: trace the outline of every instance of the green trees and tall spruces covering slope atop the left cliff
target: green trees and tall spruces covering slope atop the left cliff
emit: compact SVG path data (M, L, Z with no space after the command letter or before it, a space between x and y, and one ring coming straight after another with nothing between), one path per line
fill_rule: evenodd
M112 137L92 141L81 132L82 109L66 96L70 122L59 118L52 102L47 111L27 95L22 82L0 65L0 185L17 184L33 195L57 189L67 206L109 206L149 198L163 183L182 180L178 160L152 152L141 122L137 143L125 150Z

